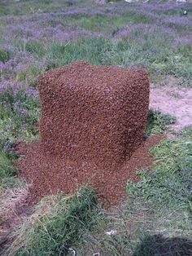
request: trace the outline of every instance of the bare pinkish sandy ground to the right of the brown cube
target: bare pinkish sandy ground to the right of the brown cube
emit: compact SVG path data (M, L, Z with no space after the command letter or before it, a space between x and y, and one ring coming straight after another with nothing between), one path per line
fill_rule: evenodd
M177 117L177 122L172 126L174 130L192 125L192 88L152 88L150 108Z

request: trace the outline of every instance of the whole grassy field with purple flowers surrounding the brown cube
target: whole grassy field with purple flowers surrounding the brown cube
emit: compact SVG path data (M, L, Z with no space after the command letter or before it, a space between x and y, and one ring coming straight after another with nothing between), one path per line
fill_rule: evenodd
M0 254L191 255L191 2L2 0L0 35ZM145 136L164 139L119 205L103 210L85 186L28 207L14 148L39 136L37 77L75 60L146 68Z

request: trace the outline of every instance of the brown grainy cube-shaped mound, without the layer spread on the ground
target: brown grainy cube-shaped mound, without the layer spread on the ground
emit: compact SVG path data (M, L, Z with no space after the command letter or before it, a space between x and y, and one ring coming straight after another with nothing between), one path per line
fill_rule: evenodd
M124 163L142 143L149 108L147 73L77 61L38 81L41 151L82 165Z

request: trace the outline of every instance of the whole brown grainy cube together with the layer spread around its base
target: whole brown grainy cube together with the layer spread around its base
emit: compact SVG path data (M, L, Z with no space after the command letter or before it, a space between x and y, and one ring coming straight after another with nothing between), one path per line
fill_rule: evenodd
M89 182L105 205L117 204L127 179L137 180L135 170L150 166L147 148L159 141L143 142L146 72L78 61L42 75L39 92L40 141L17 148L25 155L18 174L33 182L29 201Z

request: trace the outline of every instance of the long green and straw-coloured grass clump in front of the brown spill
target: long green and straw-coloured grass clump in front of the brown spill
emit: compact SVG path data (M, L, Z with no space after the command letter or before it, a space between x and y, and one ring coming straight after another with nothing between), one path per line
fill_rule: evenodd
M96 223L96 203L94 190L87 187L74 195L45 197L14 232L7 255L66 255Z

